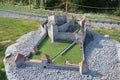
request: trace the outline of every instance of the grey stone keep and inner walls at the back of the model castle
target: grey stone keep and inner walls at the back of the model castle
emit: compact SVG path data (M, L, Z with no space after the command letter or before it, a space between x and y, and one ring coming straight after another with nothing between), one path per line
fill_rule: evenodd
M67 21L65 15L52 15L48 17L48 35L51 38L52 43L54 43L56 40L83 42L86 32L82 35L78 35L76 32L74 32L74 28L75 19Z

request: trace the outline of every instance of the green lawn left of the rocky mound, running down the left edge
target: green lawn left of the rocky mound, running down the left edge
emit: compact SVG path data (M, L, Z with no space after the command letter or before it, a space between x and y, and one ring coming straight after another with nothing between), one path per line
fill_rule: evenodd
M5 80L5 72L1 69L4 68L3 58L7 46L13 44L23 34L37 30L40 23L41 21L38 20L0 17L0 80ZM6 40L10 40L10 42L2 43Z

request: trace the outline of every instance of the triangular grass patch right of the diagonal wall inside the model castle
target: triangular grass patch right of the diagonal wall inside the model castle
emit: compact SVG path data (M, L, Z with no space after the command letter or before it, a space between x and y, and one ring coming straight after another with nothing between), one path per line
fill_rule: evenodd
M83 54L82 54L82 51L80 50L80 44L76 44L64 55L58 57L55 60L55 62L59 64L64 64L66 60L69 60L74 64L78 64L80 61L83 60Z

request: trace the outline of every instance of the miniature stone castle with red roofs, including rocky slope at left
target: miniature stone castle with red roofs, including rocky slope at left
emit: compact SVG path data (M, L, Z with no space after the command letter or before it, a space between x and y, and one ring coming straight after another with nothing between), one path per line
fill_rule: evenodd
M79 25L79 29L75 29L75 23ZM37 46L40 45L42 40L46 36L49 36L51 43L59 40L73 41L69 46L71 47L75 43L81 45L83 53L83 61L79 64L72 64L66 61L65 65L55 64L54 59L50 59L48 55L43 55L41 60L28 59L31 54L37 52ZM4 63L7 70L7 64L15 62L19 68L24 62L37 63L47 69L59 69L59 70L73 70L79 71L81 74L87 72L87 63L84 58L84 49L86 45L93 40L93 36L90 31L90 27L85 25L85 18L81 21L77 21L75 18L67 20L66 15L50 15L37 31L31 31L21 36L16 43L10 45L5 52ZM67 48L66 50L68 50ZM64 52L62 53L64 54ZM61 55L61 54L59 54ZM8 73L6 73L9 75Z

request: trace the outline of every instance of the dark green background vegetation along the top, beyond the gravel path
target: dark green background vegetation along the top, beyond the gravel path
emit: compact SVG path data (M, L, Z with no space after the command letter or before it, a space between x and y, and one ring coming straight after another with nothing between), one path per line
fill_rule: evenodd
M2 4L29 5L34 9L59 9L65 11L68 1L69 12L105 12L120 16L120 0L0 0Z

